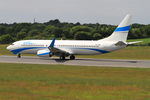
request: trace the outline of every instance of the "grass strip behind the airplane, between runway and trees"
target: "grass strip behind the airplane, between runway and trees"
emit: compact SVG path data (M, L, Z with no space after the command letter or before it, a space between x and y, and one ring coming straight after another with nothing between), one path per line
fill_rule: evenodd
M0 45L0 55L12 55L6 50L7 45ZM25 54L24 54L25 55ZM31 55L27 55L31 56ZM33 56L33 55L32 55ZM36 55L35 55L36 56ZM103 55L77 56L77 58L100 58L100 59L150 59L150 46L129 46L119 51Z

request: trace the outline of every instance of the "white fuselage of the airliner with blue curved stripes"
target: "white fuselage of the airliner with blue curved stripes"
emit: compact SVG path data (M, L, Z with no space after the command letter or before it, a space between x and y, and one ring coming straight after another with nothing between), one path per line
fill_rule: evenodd
M47 49L52 40L22 40L14 42L7 49L14 54L37 54L39 50ZM126 47L116 46L112 41L78 41L78 40L56 40L54 47L67 51L70 55L97 55L109 53Z

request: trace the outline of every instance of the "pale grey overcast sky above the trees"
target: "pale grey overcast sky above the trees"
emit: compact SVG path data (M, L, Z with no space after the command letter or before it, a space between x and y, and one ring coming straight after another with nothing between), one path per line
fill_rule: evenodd
M0 23L61 22L119 24L126 14L132 23L150 24L150 0L0 0Z

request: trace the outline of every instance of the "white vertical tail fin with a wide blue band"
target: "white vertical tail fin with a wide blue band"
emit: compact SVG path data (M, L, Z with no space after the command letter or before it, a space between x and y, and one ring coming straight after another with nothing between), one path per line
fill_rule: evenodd
M130 30L131 15L127 15L120 25L115 29L111 36L105 38L106 41L123 41L126 42Z

